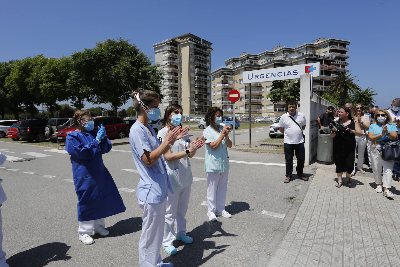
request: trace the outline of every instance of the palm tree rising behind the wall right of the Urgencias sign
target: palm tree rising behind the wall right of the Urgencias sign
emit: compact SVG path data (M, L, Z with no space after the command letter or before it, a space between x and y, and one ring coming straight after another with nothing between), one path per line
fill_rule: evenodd
M328 87L328 92L338 92L340 95L340 106L344 105L344 101L348 97L349 93L358 92L361 90L360 86L354 83L358 81L354 79L358 76L353 76L350 72L340 72L337 77L332 80L332 84Z

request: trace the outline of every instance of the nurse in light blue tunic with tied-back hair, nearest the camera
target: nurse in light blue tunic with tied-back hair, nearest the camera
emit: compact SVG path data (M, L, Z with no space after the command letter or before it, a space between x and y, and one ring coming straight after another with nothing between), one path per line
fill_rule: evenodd
M159 96L151 90L139 89L132 93L133 106L138 119L129 133L132 157L140 175L136 190L139 207L143 210L142 234L139 241L140 267L173 267L172 263L163 263L160 255L164 235L164 219L168 191L173 193L164 162L164 152L174 145L176 140L187 136L181 127L167 131L161 143L149 120L160 116Z

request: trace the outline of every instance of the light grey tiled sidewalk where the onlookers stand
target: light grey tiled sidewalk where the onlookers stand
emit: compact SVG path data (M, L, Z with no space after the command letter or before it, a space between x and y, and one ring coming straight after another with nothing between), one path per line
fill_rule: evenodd
M388 199L375 193L372 173L336 188L334 165L313 165L306 197L268 266L400 266L400 183L392 181Z

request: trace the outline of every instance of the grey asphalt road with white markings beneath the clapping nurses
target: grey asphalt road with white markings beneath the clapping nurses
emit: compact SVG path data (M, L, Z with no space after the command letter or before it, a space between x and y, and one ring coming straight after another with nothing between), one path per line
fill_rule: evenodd
M195 132L202 133L192 134ZM6 161L0 169L8 197L1 207L3 249L11 267L138 266L142 213L135 191L139 175L129 145L115 146L103 155L127 210L106 218L110 235L94 235L92 245L78 241L77 198L69 155L48 147L1 141L0 152L12 159L32 159ZM229 151L229 156L226 210L232 218L208 220L202 148L190 160L195 178L186 218L187 234L194 242L174 241L178 254L173 256L161 249L164 262L176 267L265 266L278 245L282 218L300 203L301 199L292 198L309 182L296 179L283 183L283 155ZM311 175L312 170L306 168L305 173Z

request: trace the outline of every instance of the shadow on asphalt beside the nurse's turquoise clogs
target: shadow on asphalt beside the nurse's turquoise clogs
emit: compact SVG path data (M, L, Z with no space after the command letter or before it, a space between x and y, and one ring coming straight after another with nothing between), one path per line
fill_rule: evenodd
M193 238L193 243L185 244L182 241L174 241L176 248L184 246L178 254L171 255L163 259L164 263L171 262L174 266L196 267L206 263L209 259L219 253L225 251L225 247L229 245L216 246L214 241L206 241L204 239L213 237L236 237L234 234L226 233L222 229L220 221L206 221L202 225L196 227L187 235ZM215 234L219 232L218 234ZM212 252L207 257L203 258L204 250L212 249ZM208 253L207 253L208 254Z

